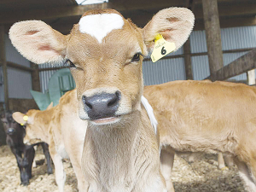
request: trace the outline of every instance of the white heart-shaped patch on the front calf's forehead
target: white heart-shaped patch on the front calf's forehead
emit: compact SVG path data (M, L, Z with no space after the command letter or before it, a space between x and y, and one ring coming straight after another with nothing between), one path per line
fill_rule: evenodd
M113 29L124 26L123 18L118 14L86 15L79 20L79 31L95 37L100 44Z

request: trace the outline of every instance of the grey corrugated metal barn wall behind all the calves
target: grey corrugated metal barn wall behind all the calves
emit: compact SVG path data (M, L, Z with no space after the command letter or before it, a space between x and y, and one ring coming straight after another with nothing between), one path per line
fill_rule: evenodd
M221 29L222 46L224 50L228 49L244 49L256 47L256 26L243 26ZM202 53L207 52L206 35L204 31L192 32L190 36L191 52ZM22 57L16 49L10 44L9 38L6 36L6 57L7 61L19 63L20 65L29 67L30 62ZM247 52L224 54L224 65L235 61L241 55ZM183 49L177 50L176 53L170 55L183 54ZM192 56L192 70L194 79L205 79L209 74L207 55ZM40 65L39 68L51 67L50 65ZM49 79L56 70L40 72L40 84L43 92L48 90ZM9 97L10 98L32 98L29 90L32 89L31 74L14 68L8 68L9 73ZM152 61L144 61L143 63L144 83L161 84L168 81L186 79L183 58L162 59L153 63ZM1 84L0 71L0 102L3 102L3 84ZM246 73L234 78L235 80L246 80Z

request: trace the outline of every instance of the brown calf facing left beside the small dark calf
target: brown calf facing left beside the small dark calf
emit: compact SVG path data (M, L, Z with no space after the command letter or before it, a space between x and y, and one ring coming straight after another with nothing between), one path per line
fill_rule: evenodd
M79 119L76 90L67 92L60 103L45 111L29 110L26 114L15 112L14 119L26 124L24 140L41 140L49 143L49 154L55 165L55 180L60 192L64 191L66 175L62 159L69 158L78 179L79 191L87 191L81 171L81 158L87 121ZM23 117L28 116L27 121Z

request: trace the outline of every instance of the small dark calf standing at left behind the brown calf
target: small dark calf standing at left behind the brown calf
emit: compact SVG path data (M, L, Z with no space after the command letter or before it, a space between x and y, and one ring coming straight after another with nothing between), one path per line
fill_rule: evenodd
M34 145L26 145L23 143L23 138L26 135L26 131L22 125L15 122L12 118L11 112L6 112L1 115L3 122L3 129L6 133L6 143L11 148L15 158L17 160L18 167L20 169L20 181L21 184L29 184L29 179L32 177L32 162L35 156ZM47 172L51 174L51 159L49 156L49 149L47 143L42 143L44 149L44 155L47 160Z

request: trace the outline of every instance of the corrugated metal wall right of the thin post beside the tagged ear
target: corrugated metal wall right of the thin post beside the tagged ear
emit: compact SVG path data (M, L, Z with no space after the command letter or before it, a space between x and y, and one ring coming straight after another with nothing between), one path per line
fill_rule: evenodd
M255 34L256 26L231 27L221 29L222 49L229 50L256 48ZM192 53L207 52L207 39L205 31L192 32L190 35L190 42ZM224 54L224 66L245 54L247 54L247 52ZM208 56L192 56L192 69L195 80L207 78L207 76L210 75L210 70L208 67ZM237 81L246 80L247 75L246 73L243 73L231 79Z

